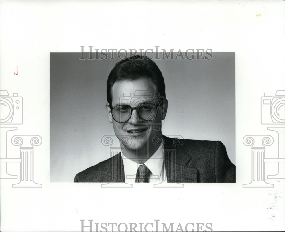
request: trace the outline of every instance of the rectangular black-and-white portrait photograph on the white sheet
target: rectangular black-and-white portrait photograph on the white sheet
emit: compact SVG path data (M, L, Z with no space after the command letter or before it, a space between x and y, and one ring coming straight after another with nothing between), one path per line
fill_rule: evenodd
M83 48L50 54L52 182L235 182L235 53Z

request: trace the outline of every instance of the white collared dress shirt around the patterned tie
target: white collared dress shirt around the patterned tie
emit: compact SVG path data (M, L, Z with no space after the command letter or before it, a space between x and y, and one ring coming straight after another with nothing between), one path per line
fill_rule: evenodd
M150 175L148 176L149 183L167 182L162 152L162 145L160 145L156 152L154 152L154 154L144 163L150 170ZM138 167L143 164L138 164L132 160L129 160L124 156L122 151L121 156L124 164L125 183L137 183L137 170Z

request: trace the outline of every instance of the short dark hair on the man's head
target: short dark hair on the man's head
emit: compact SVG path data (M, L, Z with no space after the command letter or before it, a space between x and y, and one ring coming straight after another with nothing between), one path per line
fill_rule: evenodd
M149 78L160 96L166 97L164 78L156 63L146 56L135 55L117 62L108 76L107 101L110 106L112 104L111 89L116 81L137 80L142 77Z

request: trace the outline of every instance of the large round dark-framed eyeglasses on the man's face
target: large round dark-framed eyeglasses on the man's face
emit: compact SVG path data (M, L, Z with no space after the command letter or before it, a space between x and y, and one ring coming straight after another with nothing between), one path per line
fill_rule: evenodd
M160 106L143 103L137 107L131 107L129 105L116 105L110 107L110 109L112 112L112 117L116 122L125 123L131 118L133 110L136 110L134 117L138 122L154 120L157 116L157 107Z

